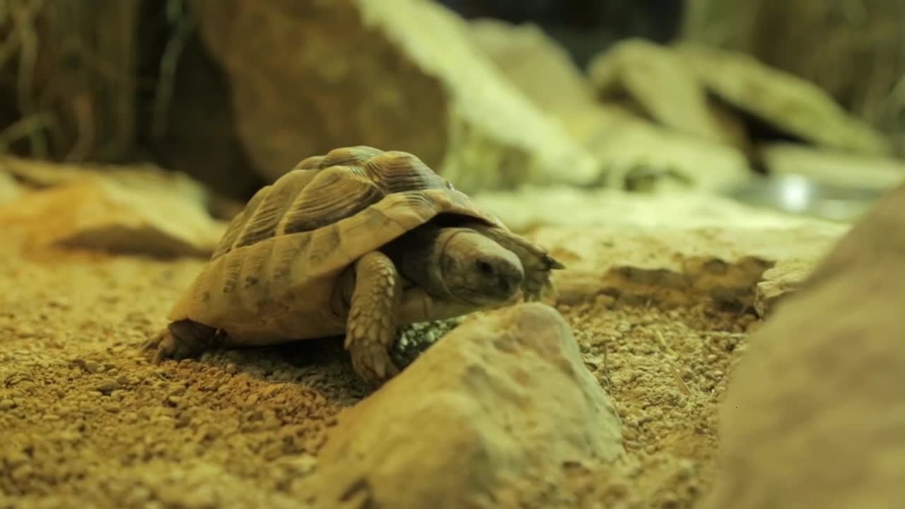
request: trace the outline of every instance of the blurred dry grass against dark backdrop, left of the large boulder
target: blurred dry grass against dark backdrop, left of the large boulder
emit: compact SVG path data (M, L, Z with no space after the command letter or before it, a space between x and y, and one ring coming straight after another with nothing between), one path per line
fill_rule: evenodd
M145 130L163 137L176 63L195 23L186 0L161 6L157 13L138 0L0 2L0 67L10 76L0 101L13 100L17 115L4 119L0 152L122 161L134 157ZM141 24L162 24L167 34L150 73L141 59L156 48L140 46ZM148 115L142 101L151 103Z

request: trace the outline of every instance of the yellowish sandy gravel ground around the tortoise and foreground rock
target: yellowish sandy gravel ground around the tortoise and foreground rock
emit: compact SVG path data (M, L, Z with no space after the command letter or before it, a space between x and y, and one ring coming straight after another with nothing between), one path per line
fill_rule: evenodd
M166 324L203 260L37 251L4 228L0 507L304 499L299 481L334 417L365 396L336 342L151 366L138 347ZM613 395L627 450L614 466L576 469L567 498L693 507L710 486L717 402L754 317L607 296L558 307Z

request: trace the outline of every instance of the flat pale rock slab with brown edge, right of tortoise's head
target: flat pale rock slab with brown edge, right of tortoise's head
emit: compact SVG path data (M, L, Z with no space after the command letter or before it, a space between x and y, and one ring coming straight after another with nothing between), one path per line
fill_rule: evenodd
M533 187L476 199L566 264L553 276L561 302L605 293L637 303L705 298L753 307L765 270L784 260L813 264L849 227L703 192Z

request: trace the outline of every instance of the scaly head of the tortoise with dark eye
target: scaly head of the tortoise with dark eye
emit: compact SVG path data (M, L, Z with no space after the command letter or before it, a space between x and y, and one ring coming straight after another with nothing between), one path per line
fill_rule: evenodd
M519 292L525 279L519 257L491 238L469 228L443 228L437 242L440 263L434 270L455 300L496 306Z

